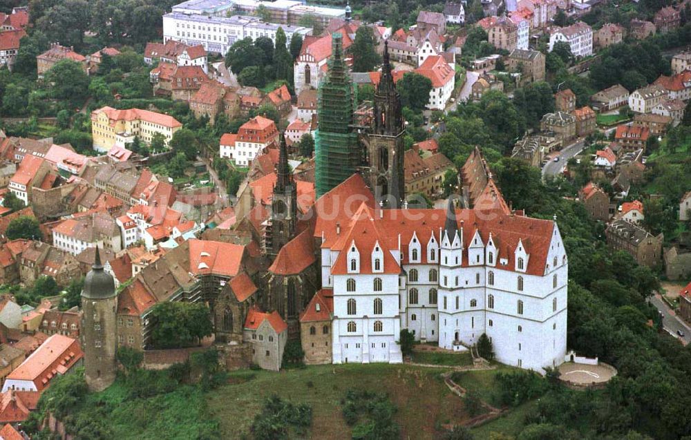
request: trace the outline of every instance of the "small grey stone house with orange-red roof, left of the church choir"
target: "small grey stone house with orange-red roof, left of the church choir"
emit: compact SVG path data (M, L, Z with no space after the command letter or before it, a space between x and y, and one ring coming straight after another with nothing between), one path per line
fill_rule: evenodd
M252 345L252 361L263 370L281 370L288 340L288 325L281 315L249 309L245 318L244 339Z

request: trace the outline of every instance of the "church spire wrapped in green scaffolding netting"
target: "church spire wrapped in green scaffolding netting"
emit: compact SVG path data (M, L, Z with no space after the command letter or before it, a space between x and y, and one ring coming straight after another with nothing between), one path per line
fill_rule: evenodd
M320 197L353 175L361 155L352 130L354 93L343 59L343 37L332 35L329 70L319 85L319 129L315 133L316 195Z

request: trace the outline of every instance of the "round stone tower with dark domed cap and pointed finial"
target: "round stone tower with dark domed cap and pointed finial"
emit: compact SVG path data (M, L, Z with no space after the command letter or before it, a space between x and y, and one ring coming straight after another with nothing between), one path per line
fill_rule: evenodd
M82 349L86 384L92 391L102 391L115 381L117 372L117 294L113 277L103 270L98 247L95 254L82 290Z

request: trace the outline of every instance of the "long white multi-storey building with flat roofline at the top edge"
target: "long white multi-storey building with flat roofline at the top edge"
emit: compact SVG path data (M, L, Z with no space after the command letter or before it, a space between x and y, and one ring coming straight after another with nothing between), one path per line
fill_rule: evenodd
M201 44L208 52L225 55L236 41L250 37L269 37L276 43L276 31L283 28L287 42L295 32L308 35L310 28L287 24L264 23L258 17L234 15L218 17L213 15L183 14L170 12L163 16L164 41L176 40L189 46Z

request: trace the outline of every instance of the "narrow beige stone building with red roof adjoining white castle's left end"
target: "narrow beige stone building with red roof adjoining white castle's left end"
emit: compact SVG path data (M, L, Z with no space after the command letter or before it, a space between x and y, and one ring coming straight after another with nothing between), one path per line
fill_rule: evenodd
M334 292L321 289L312 296L300 316L300 342L305 364L331 363L331 321L334 318Z

